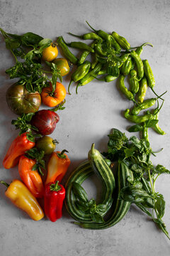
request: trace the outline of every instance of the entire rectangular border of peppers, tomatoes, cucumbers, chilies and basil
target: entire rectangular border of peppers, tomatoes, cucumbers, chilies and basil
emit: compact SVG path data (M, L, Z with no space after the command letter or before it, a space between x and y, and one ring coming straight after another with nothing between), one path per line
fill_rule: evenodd
M16 60L16 64L6 70L10 79L18 78L18 82L8 88L6 101L8 107L18 114L18 118L11 123L20 129L3 164L6 169L18 164L23 181L14 180L10 185L5 181L0 182L7 187L6 196L33 220L40 220L44 215L53 222L61 218L65 198L65 206L72 218L77 220L76 224L89 229L109 228L118 223L128 213L130 205L135 203L169 238L162 220L164 196L155 191L155 181L160 174L170 174L170 171L160 164L152 164L150 156L156 156L157 152L152 151L148 135L149 128L158 134L165 134L159 127L158 118L166 92L162 92L162 95L155 92L155 80L149 62L140 58L143 47L153 45L142 43L141 46L131 47L115 31L97 31L86 23L91 32L81 36L69 34L84 41L91 40L90 45L82 41L67 43L63 36L59 36L57 41L31 32L18 36L0 28L6 48L11 50ZM64 58L57 58L58 47ZM80 57L77 58L69 48L79 49ZM92 144L88 160L69 176L65 191L61 182L69 168L70 159L65 154L66 149L55 152L58 142L47 135L54 131L60 120L56 112L64 110L67 90L62 85L62 77L70 72L72 65L76 69L68 85L69 95L72 82L76 82L78 93L79 87L94 79L103 82L119 79L120 92L133 102L132 109L124 112L125 119L135 123L128 132L140 132L141 138L132 136L128 139L124 133L113 128L108 135L108 151L101 153ZM129 89L125 86L126 77ZM148 87L154 97L145 100ZM39 110L41 103L50 109ZM148 110L156 103L154 110ZM140 112L144 113L139 115ZM44 182L44 156L47 154L50 159ZM117 166L116 174L113 174L114 166ZM91 174L97 174L103 181L103 201L99 204L94 198L89 200L81 186ZM16 196L13 195L14 190L17 191ZM36 198L44 198L45 214ZM28 206L31 201L34 208ZM109 213L107 218L106 213Z

